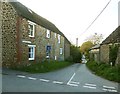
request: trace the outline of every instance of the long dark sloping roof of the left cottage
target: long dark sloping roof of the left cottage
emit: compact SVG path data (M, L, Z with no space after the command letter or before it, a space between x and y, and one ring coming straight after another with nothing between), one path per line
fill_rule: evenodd
M49 29L57 34L60 34L61 36L65 37L64 34L50 21L47 19L39 16L31 9L27 8L23 4L21 4L18 1L10 2L10 4L14 7L14 9L17 11L17 14L19 16L22 16L46 29ZM69 40L65 37L65 39L69 42ZM70 43L70 42L69 42Z

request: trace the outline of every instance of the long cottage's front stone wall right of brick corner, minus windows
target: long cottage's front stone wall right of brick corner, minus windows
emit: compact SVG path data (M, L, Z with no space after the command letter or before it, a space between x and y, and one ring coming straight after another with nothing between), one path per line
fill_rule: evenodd
M46 38L47 29L35 25L35 37L28 36L28 20L21 17L20 21L20 60L23 64L29 62L41 62L46 59L46 46L51 46L50 59L64 60L64 37L61 36L61 43L58 43L58 34L51 31L50 38ZM30 41L31 43L23 43L22 41ZM35 47L35 60L28 60L28 45L36 45ZM60 48L63 48L63 54L60 55Z

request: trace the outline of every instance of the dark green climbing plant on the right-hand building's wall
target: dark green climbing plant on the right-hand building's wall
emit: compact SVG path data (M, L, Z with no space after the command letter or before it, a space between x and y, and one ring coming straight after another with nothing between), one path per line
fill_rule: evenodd
M115 65L117 54L118 54L118 44L110 45L109 62L110 63L112 62L112 66Z

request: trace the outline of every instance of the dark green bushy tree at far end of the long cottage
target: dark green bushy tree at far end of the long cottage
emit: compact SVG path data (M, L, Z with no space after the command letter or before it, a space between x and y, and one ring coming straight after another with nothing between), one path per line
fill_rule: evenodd
M74 45L72 45L70 47L70 55L73 59L73 62L80 62L81 61L81 52L80 52L80 48L76 47Z

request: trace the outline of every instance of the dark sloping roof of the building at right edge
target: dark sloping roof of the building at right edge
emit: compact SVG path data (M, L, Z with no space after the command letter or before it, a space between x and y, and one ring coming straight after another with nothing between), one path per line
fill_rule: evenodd
M110 43L120 43L120 26L102 42L102 44Z

